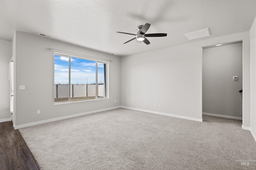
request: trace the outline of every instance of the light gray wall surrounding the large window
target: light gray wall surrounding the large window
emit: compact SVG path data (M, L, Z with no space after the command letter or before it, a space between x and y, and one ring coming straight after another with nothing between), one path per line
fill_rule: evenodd
M14 38L15 126L120 106L119 57L19 31ZM54 105L54 57L46 47L113 60L109 63L109 99ZM25 85L26 90L19 90L20 85Z

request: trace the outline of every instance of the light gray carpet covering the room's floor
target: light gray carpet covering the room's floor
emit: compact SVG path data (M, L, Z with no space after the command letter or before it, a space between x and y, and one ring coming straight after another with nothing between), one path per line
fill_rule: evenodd
M118 108L20 133L43 170L256 169L256 142L242 121L203 118Z

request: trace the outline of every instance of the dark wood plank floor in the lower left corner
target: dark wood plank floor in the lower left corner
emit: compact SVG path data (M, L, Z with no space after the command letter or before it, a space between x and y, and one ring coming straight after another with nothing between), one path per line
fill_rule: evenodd
M0 123L0 170L40 170L11 121Z

